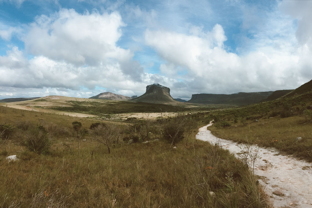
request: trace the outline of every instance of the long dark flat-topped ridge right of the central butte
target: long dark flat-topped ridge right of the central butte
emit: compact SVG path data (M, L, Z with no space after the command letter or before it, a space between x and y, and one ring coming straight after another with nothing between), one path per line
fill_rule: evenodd
M192 94L188 103L200 104L229 104L249 105L267 99L273 91L269 92L239 92L235 94Z

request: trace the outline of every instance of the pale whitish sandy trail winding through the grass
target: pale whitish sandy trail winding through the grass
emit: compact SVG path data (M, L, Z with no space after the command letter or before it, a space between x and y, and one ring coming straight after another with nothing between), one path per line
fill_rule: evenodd
M197 139L210 143L220 143L222 148L238 153L241 149L236 143L220 139L207 130L212 123L199 128ZM253 151L258 148L252 146ZM297 160L291 156L282 156L274 148L259 148L260 159L255 163L255 174L261 176L260 183L274 207L312 207L312 163ZM282 196L273 192L280 191ZM280 195L279 194L279 195Z

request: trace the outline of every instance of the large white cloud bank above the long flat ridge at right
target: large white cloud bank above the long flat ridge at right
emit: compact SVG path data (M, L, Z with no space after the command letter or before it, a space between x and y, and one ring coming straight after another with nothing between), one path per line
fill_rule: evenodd
M238 56L225 50L223 42L227 38L221 25L215 25L208 32L197 28L191 33L147 30L145 41L167 61L161 65L161 71L167 76L174 75L179 67L187 70L186 75L179 78L193 93L292 89L303 84L302 80L309 80L302 79L303 72L298 69L302 64L310 65L311 61L300 58L309 54L301 48L294 51L282 38L279 43L283 50L274 45L258 45L253 51Z

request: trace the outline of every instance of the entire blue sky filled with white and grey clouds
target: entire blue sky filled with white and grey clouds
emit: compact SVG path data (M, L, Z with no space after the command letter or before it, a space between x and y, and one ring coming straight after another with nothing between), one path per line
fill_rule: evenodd
M0 99L173 98L312 79L312 1L0 0Z

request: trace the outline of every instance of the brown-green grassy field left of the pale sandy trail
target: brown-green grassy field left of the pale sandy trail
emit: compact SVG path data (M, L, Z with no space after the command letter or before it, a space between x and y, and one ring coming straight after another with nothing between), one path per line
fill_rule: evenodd
M208 122L203 113L188 117L196 118L197 126ZM110 154L87 135L78 159L73 121L87 129L97 122L0 107L0 123L14 127L9 139L2 138L0 144L1 207L268 206L250 169L228 151L195 140L197 128L188 146L182 140L173 149L161 133L153 133L152 138L159 141L128 145L120 139ZM118 124L121 129L129 125ZM27 125L46 129L52 143L49 152L38 155L21 145ZM17 155L19 160L8 162L7 155Z

